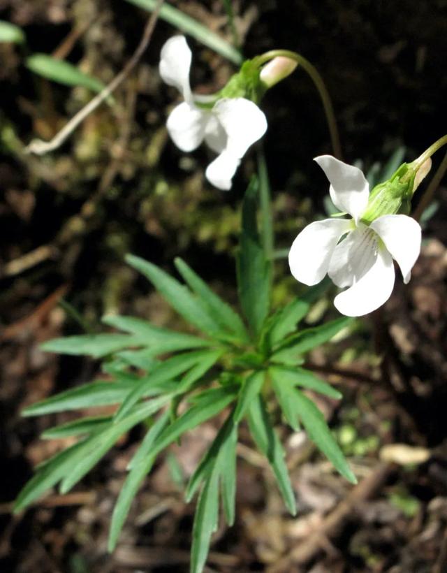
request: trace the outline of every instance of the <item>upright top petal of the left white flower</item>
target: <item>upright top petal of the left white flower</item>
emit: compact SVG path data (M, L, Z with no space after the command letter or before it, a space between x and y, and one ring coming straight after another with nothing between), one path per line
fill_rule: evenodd
M159 72L163 82L177 87L186 101L192 101L189 70L192 54L184 36L173 36L163 45Z

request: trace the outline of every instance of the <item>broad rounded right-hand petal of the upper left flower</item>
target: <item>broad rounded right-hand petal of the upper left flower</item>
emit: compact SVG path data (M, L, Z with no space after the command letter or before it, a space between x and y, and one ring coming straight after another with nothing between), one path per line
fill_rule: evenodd
M264 113L248 99L220 99L213 112L228 136L226 151L237 159L242 159L250 145L267 130Z

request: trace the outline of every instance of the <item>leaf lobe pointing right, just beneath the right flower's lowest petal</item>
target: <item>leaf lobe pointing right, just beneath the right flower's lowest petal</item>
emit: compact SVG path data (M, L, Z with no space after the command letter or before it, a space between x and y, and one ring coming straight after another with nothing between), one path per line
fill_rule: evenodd
M306 330L298 334L293 334L279 344L277 351L272 354L272 361L291 363L295 357L298 358L309 350L320 346L320 344L328 342L342 328L351 324L352 321L351 317L341 317L326 322L321 326L306 328Z

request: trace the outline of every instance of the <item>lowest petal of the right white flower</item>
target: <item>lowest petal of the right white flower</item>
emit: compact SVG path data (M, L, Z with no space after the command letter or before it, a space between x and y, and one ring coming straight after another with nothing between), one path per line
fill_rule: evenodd
M374 265L351 288L335 297L334 305L347 317L362 317L390 298L394 286L394 266L385 248L379 249Z

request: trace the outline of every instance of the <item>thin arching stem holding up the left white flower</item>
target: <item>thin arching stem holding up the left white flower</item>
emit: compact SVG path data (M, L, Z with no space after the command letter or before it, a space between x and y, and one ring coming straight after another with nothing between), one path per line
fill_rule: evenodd
M298 65L300 65L305 72L310 76L312 82L320 94L321 101L323 103L324 113L326 116L326 121L328 122L328 128L330 133L330 140L332 143L332 149L334 151L335 157L337 159L342 159L342 146L340 145L340 138L337 128L337 122L335 121L335 114L334 108L332 107L332 101L329 96L328 89L323 82L323 78L321 78L320 73L313 66L309 60L302 57L302 55L297 54L296 52L291 52L290 50L270 50L270 52L265 52L265 54L258 56L256 58L256 62L261 65L265 64L266 62L270 61L274 57L283 56L286 58L293 59L296 61Z

